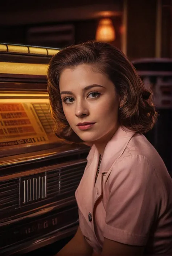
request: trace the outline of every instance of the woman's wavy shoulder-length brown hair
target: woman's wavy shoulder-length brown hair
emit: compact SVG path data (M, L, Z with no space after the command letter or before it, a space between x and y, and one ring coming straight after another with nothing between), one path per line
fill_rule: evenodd
M50 109L56 123L54 132L61 140L68 143L83 142L66 120L59 89L62 71L80 64L92 65L94 71L104 73L113 82L123 102L118 113L120 125L136 133L146 133L152 129L157 119L152 93L144 87L131 62L111 44L86 42L66 47L54 55L49 63L47 77Z

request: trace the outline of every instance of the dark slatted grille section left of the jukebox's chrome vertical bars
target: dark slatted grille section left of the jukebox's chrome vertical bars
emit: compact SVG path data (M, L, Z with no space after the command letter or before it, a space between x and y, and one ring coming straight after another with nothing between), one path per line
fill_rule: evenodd
M0 212L10 211L19 206L19 181L0 182Z

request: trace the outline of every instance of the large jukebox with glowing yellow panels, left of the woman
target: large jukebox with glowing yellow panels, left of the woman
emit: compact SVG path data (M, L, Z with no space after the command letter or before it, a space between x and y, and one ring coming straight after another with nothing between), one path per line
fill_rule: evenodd
M46 70L57 49L0 44L0 255L76 232L89 148L53 134Z

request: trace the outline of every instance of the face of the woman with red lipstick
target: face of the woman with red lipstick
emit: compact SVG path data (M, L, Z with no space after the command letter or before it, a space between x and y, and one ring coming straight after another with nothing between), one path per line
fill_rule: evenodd
M86 142L101 142L118 127L119 97L105 74L82 64L60 75L65 117L73 131ZM84 124L85 123L85 124Z

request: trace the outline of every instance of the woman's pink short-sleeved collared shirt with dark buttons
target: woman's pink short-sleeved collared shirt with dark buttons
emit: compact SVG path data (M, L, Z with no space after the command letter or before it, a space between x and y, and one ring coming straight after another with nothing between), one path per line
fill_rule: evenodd
M87 242L98 253L106 237L145 246L150 255L172 255L172 179L155 148L120 127L105 148L95 183L98 160L93 145L75 192Z

